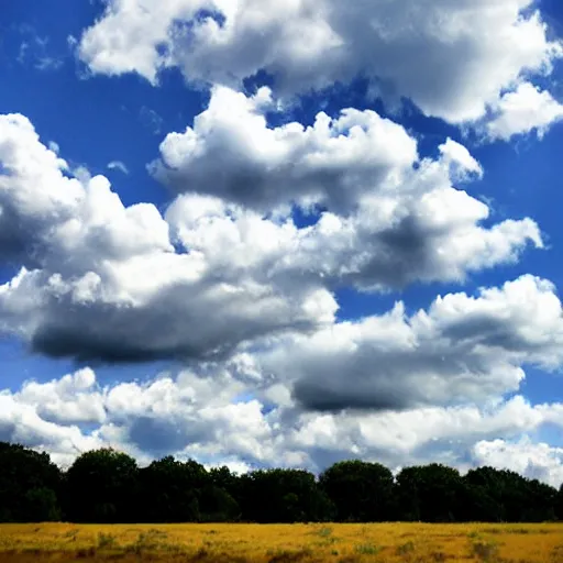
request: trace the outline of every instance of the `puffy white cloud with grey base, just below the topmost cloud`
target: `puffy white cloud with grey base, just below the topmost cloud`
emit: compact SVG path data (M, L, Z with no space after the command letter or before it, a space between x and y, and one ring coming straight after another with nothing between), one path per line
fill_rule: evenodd
M418 161L415 139L374 111L350 108L338 119L321 112L312 126L268 128L268 108L275 110L268 88L247 98L214 87L194 128L166 136L153 173L175 191L263 212L291 201L350 211L366 191L396 189Z

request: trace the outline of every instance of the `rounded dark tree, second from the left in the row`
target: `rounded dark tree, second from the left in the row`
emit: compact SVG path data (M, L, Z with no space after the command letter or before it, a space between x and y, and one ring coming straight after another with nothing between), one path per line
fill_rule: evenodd
M79 455L65 476L64 506L77 522L136 521L139 468L130 455L103 448Z

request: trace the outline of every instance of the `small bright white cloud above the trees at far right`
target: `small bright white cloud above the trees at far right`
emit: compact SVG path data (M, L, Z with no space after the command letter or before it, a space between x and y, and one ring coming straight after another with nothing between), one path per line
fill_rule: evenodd
M479 465L515 471L558 488L563 484L563 448L533 443L527 437L516 442L483 440L474 445L473 455Z

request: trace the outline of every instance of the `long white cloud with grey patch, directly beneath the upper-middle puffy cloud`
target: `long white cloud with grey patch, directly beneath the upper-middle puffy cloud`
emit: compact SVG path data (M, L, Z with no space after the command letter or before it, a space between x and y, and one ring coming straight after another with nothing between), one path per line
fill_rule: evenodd
M427 164L423 176L448 178L440 164ZM197 196L176 200L166 218L178 243L208 256L216 272L234 279L250 269L255 279L286 290L295 284L386 290L417 280L457 282L515 262L529 243L542 246L530 219L490 229L476 224L487 207L449 185L419 198L365 198L349 218L324 212L301 229L290 219L277 223Z

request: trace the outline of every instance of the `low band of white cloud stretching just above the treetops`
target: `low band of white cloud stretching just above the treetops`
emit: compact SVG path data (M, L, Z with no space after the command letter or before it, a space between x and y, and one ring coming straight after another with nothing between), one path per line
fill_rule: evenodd
M93 372L85 369L45 384L26 382L18 393L0 393L1 438L44 448L63 464L85 449L111 444L143 464L170 453L238 470L283 465L317 472L351 456L391 468L438 460L462 470L475 463L507 466L558 485L558 450L531 442L522 442L526 448L500 444L515 443L523 432L547 422L561 426L560 404L532 406L516 396L481 408L306 413L273 401L276 393L267 383L247 396L247 384L235 372L231 362L213 366L212 377L183 371L145 383L100 387ZM78 387L79 394L68 395L70 387ZM243 395L246 398L241 399ZM46 420L51 402L66 402L67 412L76 412L82 397L103 412L100 420L90 420L95 423L90 433L80 430L73 417ZM497 437L506 442L495 441ZM530 473L525 462L515 462L526 455L549 471Z

